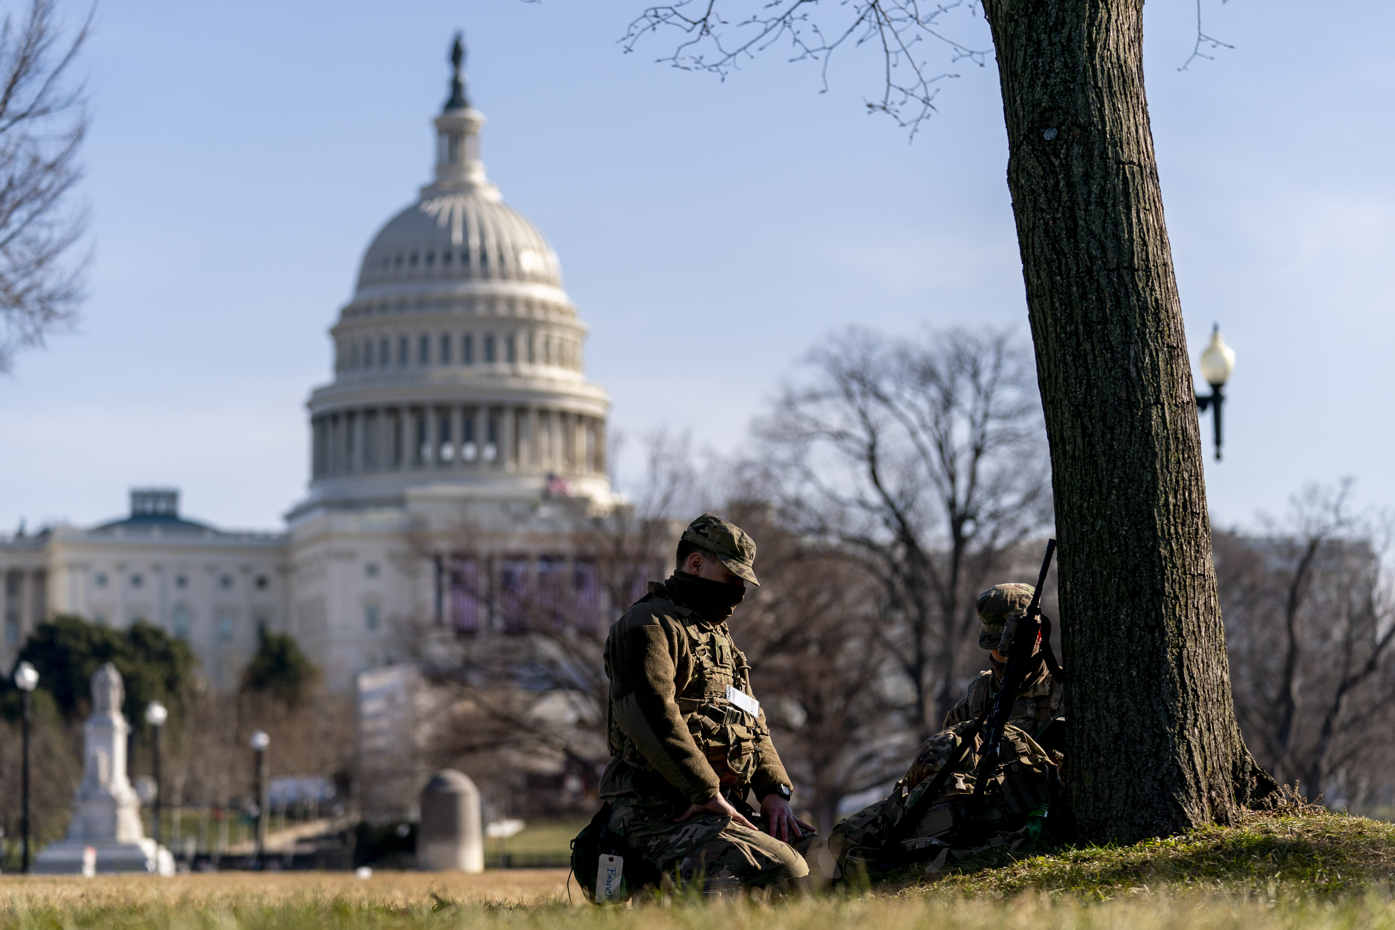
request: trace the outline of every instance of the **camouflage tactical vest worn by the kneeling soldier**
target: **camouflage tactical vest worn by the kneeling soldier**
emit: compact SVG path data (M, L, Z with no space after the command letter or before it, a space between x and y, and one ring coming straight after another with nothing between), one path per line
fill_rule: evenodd
M668 605L670 616L679 622L688 636L693 657L692 678L674 696L688 732L723 786L746 785L760 764L757 746L770 731L762 726L759 717L752 717L727 700L728 686L751 694L751 665L745 653L731 641L725 623L707 623L686 607L674 604L663 583L650 581L649 594L635 604L649 601ZM631 765L653 771L639 747L618 728L612 728L610 745L611 754Z

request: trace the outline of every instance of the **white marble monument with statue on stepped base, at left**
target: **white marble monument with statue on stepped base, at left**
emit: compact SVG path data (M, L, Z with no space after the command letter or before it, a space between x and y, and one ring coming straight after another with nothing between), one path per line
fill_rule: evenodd
M92 714L82 725L82 784L73 796L68 835L39 853L33 871L82 871L88 846L96 851L98 871L173 874L169 851L156 846L141 827L141 802L126 777L126 736L131 725L121 715L126 689L121 673L107 662L92 673Z

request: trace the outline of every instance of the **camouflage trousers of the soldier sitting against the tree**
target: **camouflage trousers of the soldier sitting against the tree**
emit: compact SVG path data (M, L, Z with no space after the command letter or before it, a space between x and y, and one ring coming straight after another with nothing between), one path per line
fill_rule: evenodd
M890 796L844 817L829 835L829 851L840 869L857 871L884 855L884 846L930 782L944 768L949 757L972 729L972 721L957 724L930 736L921 745L905 777ZM974 795L974 770L978 767L978 739L944 782L937 800L929 805L907 831L901 852L912 857L944 862L943 853L954 842ZM983 796L981 825L989 837L1002 839L1023 827L1030 810L1048 799L1046 770L1050 761L1032 739L1016 726L1003 732L1002 763L993 772Z

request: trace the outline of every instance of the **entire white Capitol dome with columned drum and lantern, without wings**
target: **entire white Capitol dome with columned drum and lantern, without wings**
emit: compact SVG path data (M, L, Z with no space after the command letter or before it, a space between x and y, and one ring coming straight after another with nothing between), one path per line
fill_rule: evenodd
M610 499L605 392L552 247L480 159L484 116L456 74L435 177L374 236L310 397L310 510L437 495Z

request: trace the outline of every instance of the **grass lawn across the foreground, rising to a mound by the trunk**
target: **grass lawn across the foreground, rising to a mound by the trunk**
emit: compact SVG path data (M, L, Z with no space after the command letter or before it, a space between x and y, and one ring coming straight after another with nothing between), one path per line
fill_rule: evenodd
M565 832L568 828L559 828ZM520 834L522 837L523 834ZM518 838L515 838L518 839ZM593 908L565 870L0 878L0 929L85 930L1395 930L1395 825L1253 816L1133 846L983 855L817 901Z

